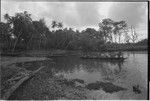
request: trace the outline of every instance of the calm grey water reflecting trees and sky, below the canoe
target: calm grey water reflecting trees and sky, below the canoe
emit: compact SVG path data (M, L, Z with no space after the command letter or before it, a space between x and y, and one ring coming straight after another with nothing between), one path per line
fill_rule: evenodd
M48 67L47 71L51 71L55 75L62 75L67 79L82 79L86 84L106 81L128 89L111 95L93 91L92 94L94 97L96 96L95 99L146 99L147 53L125 52L124 56L128 57L125 62L84 60L77 56L68 56L53 58L56 63L54 65L50 61L17 65L27 69L31 69L31 67L35 69L39 65L44 65ZM134 85L140 86L141 94L133 92Z

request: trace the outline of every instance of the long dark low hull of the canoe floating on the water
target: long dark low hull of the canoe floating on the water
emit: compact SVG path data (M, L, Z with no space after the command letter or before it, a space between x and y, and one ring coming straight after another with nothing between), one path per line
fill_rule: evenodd
M85 57L81 56L82 59L100 59L100 60L117 60L117 61L124 61L126 58L113 58L113 57Z

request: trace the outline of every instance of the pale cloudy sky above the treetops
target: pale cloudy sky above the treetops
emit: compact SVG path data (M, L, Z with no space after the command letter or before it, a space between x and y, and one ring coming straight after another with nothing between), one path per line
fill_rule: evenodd
M134 26L139 40L147 38L147 2L19 2L1 1L1 20L8 13L28 11L33 20L44 18L48 27L52 20L63 22L64 27L82 30L88 27L98 29L104 18L124 20Z

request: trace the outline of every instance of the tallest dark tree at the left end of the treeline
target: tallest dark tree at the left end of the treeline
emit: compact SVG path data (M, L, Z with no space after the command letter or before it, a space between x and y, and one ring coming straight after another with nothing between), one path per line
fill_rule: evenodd
M23 13L16 13L15 16L5 14L4 18L13 27L13 34L16 37L12 52L15 50L17 44L24 43L25 45L23 46L26 48L33 31L31 14L24 11Z

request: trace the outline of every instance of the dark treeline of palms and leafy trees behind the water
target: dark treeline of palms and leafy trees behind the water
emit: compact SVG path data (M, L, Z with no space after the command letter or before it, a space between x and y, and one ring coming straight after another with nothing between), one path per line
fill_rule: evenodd
M113 21L109 18L99 22L99 30L87 28L82 31L64 28L62 22L52 21L47 27L44 19L32 20L27 11L14 16L5 14L6 22L0 22L1 50L34 50L34 49L70 49L101 50L106 44L135 43L137 33L125 21Z

